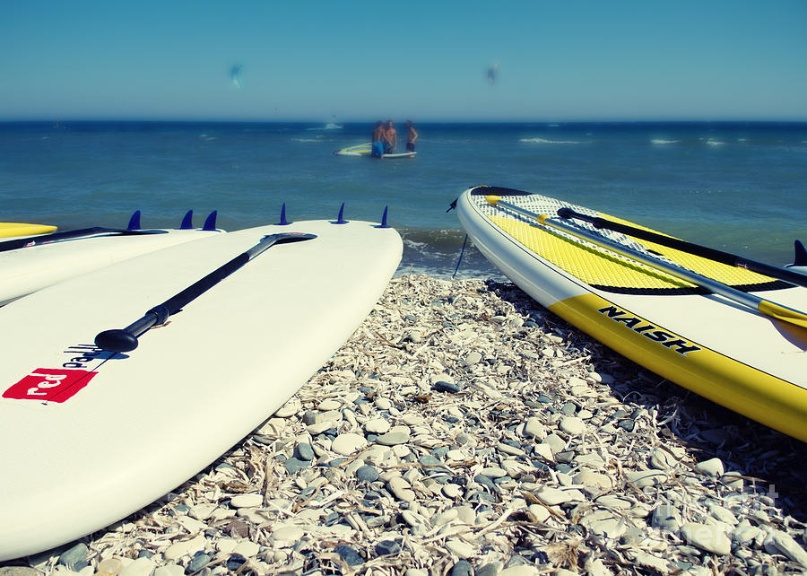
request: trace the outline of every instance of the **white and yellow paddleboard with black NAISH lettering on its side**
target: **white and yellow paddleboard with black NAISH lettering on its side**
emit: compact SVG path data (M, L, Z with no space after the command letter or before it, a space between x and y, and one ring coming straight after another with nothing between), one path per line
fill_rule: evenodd
M457 201L474 245L546 308L665 379L807 441L807 327L491 205L491 195L535 214L556 217L569 207L625 221L510 188L470 188ZM589 223L574 226L751 297L807 310L803 286Z

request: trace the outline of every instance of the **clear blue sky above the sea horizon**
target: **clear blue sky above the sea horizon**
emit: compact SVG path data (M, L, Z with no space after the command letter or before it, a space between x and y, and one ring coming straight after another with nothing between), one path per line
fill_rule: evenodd
M4 120L807 120L807 2L8 0L0 77Z

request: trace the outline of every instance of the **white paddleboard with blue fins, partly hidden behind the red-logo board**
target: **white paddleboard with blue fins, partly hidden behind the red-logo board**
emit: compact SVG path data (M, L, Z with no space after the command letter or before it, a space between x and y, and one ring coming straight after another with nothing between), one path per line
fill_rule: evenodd
M191 228L192 215L177 230L143 230L135 213L131 229L95 227L0 241L0 305L127 258L223 233L215 228L215 213L202 229Z

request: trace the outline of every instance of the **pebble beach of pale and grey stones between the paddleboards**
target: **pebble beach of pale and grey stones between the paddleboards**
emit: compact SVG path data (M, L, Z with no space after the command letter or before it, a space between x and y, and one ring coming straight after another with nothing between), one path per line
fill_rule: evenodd
M219 460L0 576L802 574L805 477L515 285L403 275Z

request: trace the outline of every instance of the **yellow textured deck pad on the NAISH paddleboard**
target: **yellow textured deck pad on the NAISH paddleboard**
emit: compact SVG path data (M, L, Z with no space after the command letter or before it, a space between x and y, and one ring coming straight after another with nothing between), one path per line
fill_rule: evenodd
M652 231L649 228L643 228L606 214L600 215L613 222ZM581 240L567 238L555 231L549 231L538 225L538 223L531 225L506 216L493 215L489 217L491 222L506 231L526 248L549 260L555 266L568 272L568 274L577 276L586 284L638 290L695 288L693 284L667 275L662 271L612 255ZM681 252L681 250L667 248L646 240L636 241L647 249L669 258L672 262L723 284L736 286L767 284L773 281L768 276L721 264L708 258Z

